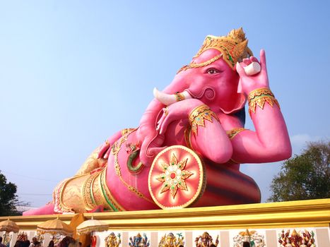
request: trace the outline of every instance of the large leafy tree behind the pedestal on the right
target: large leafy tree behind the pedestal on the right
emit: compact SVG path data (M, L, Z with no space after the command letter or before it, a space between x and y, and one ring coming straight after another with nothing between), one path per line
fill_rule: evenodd
M330 198L330 142L309 143L271 182L269 202Z

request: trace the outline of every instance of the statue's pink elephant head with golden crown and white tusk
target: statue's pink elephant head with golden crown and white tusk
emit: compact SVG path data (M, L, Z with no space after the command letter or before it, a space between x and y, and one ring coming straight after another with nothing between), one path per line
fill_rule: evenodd
M231 30L227 36L208 35L191 63L178 71L170 88L182 97L199 99L213 109L218 107L225 114L238 112L246 98L237 91L240 78L235 64L249 56L252 52L242 28ZM158 94L157 98L166 98L164 103L171 104L178 100L176 92Z

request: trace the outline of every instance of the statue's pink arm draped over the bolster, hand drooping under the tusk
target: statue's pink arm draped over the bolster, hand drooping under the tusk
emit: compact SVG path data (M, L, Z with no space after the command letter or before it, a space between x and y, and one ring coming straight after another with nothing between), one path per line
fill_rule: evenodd
M182 100L164 111L158 121L160 134L165 133L173 121L182 120L184 126L189 126L185 139L191 149L216 163L228 162L232 157L232 144L218 116L201 100Z

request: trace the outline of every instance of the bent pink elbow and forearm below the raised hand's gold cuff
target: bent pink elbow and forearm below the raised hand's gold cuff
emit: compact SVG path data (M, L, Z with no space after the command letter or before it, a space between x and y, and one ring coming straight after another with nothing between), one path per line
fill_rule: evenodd
M252 113L256 131L244 130L237 133L231 141L232 159L237 163L276 162L291 156L288 130L276 105L264 105Z

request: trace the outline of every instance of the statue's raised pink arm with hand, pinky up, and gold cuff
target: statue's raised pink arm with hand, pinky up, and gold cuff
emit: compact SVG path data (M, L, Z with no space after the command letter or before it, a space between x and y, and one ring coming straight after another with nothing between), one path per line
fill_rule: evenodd
M276 162L288 159L292 152L281 109L269 89L264 50L260 52L260 64L261 72L255 76L247 76L242 66L237 65L241 90L248 97L249 114L255 128L255 131L241 131L231 138L232 159L239 163Z

